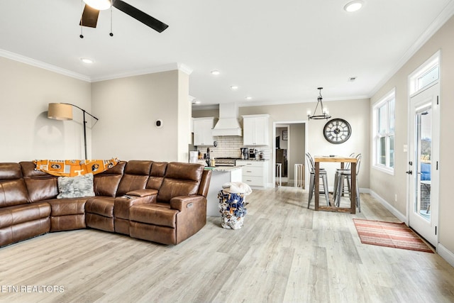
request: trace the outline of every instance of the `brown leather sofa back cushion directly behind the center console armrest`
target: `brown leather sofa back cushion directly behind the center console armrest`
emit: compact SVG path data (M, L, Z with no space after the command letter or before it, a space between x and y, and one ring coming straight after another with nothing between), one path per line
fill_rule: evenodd
M153 161L128 161L123 177L121 177L120 184L118 185L116 197L123 196L123 194L131 192L132 190L145 189L152 164Z

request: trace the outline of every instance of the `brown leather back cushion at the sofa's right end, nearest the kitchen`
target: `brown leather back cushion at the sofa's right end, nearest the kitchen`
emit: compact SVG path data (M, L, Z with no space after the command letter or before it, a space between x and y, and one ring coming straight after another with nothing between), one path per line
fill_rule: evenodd
M170 202L178 196L197 194L204 166L196 163L170 162L157 194L157 202Z

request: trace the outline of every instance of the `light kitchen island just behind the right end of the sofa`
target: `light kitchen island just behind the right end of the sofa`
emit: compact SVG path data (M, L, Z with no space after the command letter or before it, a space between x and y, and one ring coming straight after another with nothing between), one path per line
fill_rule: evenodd
M205 170L211 170L211 182L206 196L206 216L221 216L219 212L218 192L222 189L222 185L228 182L243 181L242 166L217 166L205 167Z

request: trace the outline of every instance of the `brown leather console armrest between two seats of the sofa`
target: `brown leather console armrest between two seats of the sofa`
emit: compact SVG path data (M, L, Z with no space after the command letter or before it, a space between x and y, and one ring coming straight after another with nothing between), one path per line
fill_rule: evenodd
M123 197L116 197L114 200L114 217L129 219L129 209L131 206L155 203L156 197L156 189L134 190L132 192L128 192Z

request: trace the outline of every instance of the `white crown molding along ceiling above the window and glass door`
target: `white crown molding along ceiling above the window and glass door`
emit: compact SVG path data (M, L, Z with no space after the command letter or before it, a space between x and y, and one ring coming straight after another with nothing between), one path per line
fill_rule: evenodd
M427 43L427 41L435 35L435 33L448 21L452 16L454 15L454 0L450 1L448 5L441 11L441 13L435 18L435 20L431 23L431 25L426 28L426 31L422 35L419 36L419 38L415 41L411 47L406 50L404 55L397 61L397 64L394 66L392 70L389 71L389 73L383 77L382 81L378 82L377 85L375 86L374 89L372 89L372 92L370 92L370 97L372 98L373 95L375 95L380 88L383 87L386 82L389 81L404 65L408 60L411 59L411 57L416 54L416 52L423 47L424 44Z

